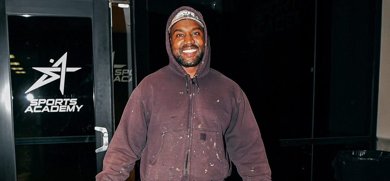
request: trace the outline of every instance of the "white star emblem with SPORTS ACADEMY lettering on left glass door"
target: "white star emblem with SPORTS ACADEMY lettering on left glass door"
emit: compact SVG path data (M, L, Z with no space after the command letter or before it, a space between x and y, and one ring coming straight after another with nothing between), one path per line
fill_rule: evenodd
M60 79L60 91L64 95L64 84L66 72L75 72L81 67L66 67L67 52L62 55L51 67L32 67L33 69L44 73L25 93L33 91L43 85ZM50 59L50 63L54 60ZM58 75L55 72L59 72ZM49 77L50 76L50 77ZM49 78L48 78L49 77ZM30 99L30 106L25 110L26 112L77 112L80 111L83 105L77 105L77 99Z

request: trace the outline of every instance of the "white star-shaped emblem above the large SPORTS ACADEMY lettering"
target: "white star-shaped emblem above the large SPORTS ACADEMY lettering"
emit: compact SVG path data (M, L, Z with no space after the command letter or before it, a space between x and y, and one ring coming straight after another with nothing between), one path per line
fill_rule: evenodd
M58 59L57 62L55 62L55 64L53 64L53 66L51 67L32 67L33 69L44 73L44 75L41 76L41 78L39 78L37 82L35 82L25 93L33 91L57 79L60 79L60 91L62 95L64 95L65 73L74 72L81 69L80 67L78 68L66 67L66 56L67 56L67 52L64 55L62 55L62 57ZM54 60L50 59L50 63L53 62ZM54 72L60 72L60 75ZM50 76L50 78L48 78L48 76Z

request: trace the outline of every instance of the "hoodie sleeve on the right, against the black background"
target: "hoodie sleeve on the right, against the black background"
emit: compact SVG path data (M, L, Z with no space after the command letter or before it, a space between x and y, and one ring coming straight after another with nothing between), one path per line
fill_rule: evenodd
M240 176L248 181L270 181L271 170L260 130L246 95L236 95L230 126L225 133L227 151Z

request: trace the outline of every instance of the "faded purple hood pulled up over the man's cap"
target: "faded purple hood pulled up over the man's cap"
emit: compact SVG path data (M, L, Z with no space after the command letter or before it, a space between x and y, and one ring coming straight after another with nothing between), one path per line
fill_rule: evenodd
M186 71L179 65L179 63L176 62L175 57L173 56L172 50L171 50L171 44L169 39L169 28L172 20L175 18L176 14L182 10L189 10L199 18L201 23L203 23L204 27L204 54L203 58L199 63L199 68L196 71L195 75L197 75L197 78L202 78L206 76L210 72L210 43L209 43L209 36L207 34L207 28L206 24L204 23L203 16L200 14L200 12L196 11L192 7L183 6L179 9L176 9L176 11L172 12L172 14L169 16L168 22L167 22L167 28L165 31L165 46L167 47L168 57L169 57L169 67L179 76L187 75ZM176 22L175 22L176 23Z

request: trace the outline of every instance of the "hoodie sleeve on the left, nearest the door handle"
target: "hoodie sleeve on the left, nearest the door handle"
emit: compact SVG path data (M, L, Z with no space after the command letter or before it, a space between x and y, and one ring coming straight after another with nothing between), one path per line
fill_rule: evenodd
M140 90L134 89L124 109L121 122L112 137L97 181L124 181L141 158L146 143L147 121Z

